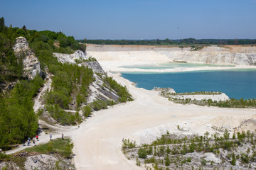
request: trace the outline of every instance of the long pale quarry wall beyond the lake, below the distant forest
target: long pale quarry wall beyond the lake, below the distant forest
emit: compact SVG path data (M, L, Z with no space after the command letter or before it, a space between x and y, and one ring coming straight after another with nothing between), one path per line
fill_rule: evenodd
M149 62L190 62L223 65L256 65L256 46L147 46L87 45L87 54L97 60L139 60Z

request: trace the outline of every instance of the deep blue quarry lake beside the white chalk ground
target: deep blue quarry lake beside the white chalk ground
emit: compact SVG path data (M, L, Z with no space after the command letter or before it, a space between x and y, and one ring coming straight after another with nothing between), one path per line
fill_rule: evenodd
M123 72L122 77L136 83L137 87L148 90L154 87L171 87L177 93L221 91L229 98L256 98L256 69L172 73Z

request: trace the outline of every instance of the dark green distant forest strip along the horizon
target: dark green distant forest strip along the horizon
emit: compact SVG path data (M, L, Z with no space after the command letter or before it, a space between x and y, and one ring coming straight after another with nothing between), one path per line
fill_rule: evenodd
M201 39L181 40L78 40L88 44L100 45L256 45L256 39Z

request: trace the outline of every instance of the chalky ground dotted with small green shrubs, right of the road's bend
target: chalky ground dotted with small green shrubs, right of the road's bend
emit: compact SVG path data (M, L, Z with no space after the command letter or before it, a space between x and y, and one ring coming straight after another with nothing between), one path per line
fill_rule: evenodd
M131 143L124 140L127 157L137 159L138 166L151 164L153 169L250 169L256 160L255 132L250 131L237 132L232 137L228 130L223 135L216 132L211 136L208 132L203 136L167 132L151 145L136 147ZM206 153L215 161L205 159Z

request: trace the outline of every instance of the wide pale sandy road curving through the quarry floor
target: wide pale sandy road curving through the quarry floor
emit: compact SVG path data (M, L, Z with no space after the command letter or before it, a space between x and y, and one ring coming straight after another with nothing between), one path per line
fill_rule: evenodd
M136 99L94 113L73 133L73 152L78 169L139 169L121 152L122 138L139 130L186 120L191 123L191 131L200 132L206 131L203 129L204 123L220 115L242 119L255 117L253 109L174 104L159 96L156 91L138 89L117 75L114 75L114 79L125 84Z

